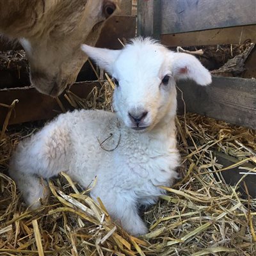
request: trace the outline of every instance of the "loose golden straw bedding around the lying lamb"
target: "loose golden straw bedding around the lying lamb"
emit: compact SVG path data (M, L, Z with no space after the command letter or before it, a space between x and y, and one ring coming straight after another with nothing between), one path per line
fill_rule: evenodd
M86 100L109 108L110 91L103 84ZM103 95L108 102L97 104ZM84 104L72 93L68 97ZM220 170L232 171L214 154L234 156L239 166L255 164L255 131L195 114L177 118L177 127L181 179L143 213L150 233L140 238L112 223L100 200L93 202L65 173L49 181L48 205L26 209L6 170L12 148L38 124L10 128L0 141L0 255L256 255L256 200L225 184Z

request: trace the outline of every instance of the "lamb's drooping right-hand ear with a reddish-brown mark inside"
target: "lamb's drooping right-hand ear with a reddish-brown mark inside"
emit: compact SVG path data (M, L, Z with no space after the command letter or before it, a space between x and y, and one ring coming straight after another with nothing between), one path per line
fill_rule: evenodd
M212 83L211 73L195 56L187 53L171 52L170 61L175 79L192 79L200 85Z

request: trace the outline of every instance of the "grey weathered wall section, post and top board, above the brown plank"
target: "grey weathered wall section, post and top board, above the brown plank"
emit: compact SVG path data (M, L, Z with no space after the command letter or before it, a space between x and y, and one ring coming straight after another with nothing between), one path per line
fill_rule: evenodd
M141 35L166 35L256 24L255 0L138 1Z

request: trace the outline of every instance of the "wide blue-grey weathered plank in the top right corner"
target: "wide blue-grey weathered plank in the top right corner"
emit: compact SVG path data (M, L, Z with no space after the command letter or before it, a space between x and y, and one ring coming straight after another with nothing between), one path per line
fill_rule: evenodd
M160 1L161 34L256 24L255 0Z

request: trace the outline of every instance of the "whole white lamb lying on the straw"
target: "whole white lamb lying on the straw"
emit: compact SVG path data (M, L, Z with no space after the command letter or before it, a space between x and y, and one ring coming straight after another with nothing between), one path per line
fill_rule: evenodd
M99 197L127 232L145 234L139 205L156 203L164 193L159 186L170 186L177 177L175 80L207 85L211 75L194 56L150 38L136 38L118 51L81 48L113 76L115 113L79 110L58 116L19 144L10 175L33 207L45 198L38 177L65 171L84 188L97 177L92 198Z

